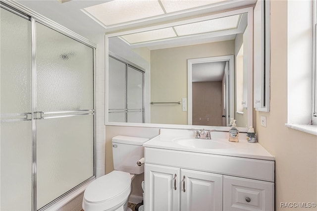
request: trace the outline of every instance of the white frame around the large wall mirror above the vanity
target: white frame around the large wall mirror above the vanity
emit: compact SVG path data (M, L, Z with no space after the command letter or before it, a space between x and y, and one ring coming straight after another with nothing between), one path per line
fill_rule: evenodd
M126 34L133 34L133 33L139 33L139 32L144 32L144 31L150 31L150 30L156 30L160 28L166 28L166 27L172 27L175 25L182 25L182 24L188 24L188 23L193 23L193 22L198 22L198 21L204 21L204 20L210 20L214 18L220 18L224 16L230 16L230 15L235 15L235 14L241 14L241 13L248 13L248 27L247 28L247 33L248 36L252 39L249 39L249 44L248 49L250 52L250 59L248 59L248 125L247 127L239 127L241 132L247 132L248 127L253 125L253 6L248 6L245 8L240 8L240 9L234 9L231 11L225 11L225 12L220 12L216 14L211 14L211 15L206 15L206 16L201 16L201 17L196 17L196 18L190 18L186 20L180 20L180 21L174 21L174 22L169 22L165 24L159 24L159 25L154 25L154 26L149 26L149 27L143 27L143 28L138 28L138 29L132 29L132 30L126 30L126 31L119 31L119 32L110 32L105 35L105 125L113 125L113 126L134 126L134 127L155 127L155 128L177 128L177 129L191 129L191 128L196 128L196 129L216 129L218 131L228 131L230 127L224 127L224 126L203 126L203 125L180 125L180 124L156 124L156 123L129 123L129 122L109 122L108 121L108 74L109 74L109 68L108 68L108 63L109 63L109 42L108 38L111 37L117 37L117 36L122 36ZM150 75L149 73L146 72L146 86L150 84ZM150 110L150 99L147 99L147 94L146 100L145 100L145 109L147 112ZM147 102L149 101L149 102ZM146 104L149 103L147 106Z

